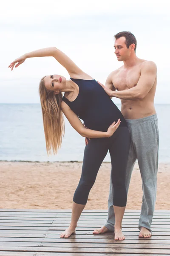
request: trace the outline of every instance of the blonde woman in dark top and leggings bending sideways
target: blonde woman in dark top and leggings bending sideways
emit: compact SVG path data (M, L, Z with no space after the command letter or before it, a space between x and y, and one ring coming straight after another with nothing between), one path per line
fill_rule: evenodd
M55 47L26 53L13 61L9 68L13 70L15 64L15 67L18 67L26 58L45 56L56 58L71 77L66 80L60 75L50 75L40 81L39 91L47 152L51 153L52 149L57 153L61 145L64 132L62 112L79 134L91 138L85 147L82 175L74 193L71 224L60 237L68 238L75 232L99 167L109 150L114 189L115 240L123 240L125 237L122 234L122 218L127 201L125 171L130 143L125 119L103 88ZM65 92L63 98L62 92ZM79 118L89 129L82 125Z

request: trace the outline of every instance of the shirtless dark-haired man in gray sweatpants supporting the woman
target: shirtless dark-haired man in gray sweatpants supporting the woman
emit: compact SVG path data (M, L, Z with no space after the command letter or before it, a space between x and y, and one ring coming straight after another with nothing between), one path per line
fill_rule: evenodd
M156 64L136 57L136 38L130 32L115 35L115 54L123 66L113 71L102 85L110 97L121 99L122 114L127 120L131 145L127 163L127 191L136 159L142 177L142 209L139 237L151 236L151 222L156 202L159 131L153 105L156 92ZM137 185L137 184L136 184ZM136 186L136 191L138 186ZM114 231L113 185L110 183L108 217L105 226L94 234Z

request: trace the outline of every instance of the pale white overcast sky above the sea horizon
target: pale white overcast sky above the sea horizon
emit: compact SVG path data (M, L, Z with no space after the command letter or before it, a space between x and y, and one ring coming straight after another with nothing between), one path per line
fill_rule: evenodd
M114 55L114 34L130 31L136 55L155 61L158 87L155 103L170 103L170 14L168 0L6 0L0 9L0 103L39 103L42 76L67 71L52 57L31 58L13 71L15 58L55 46L94 79L105 83L120 67ZM114 100L120 103L119 99Z

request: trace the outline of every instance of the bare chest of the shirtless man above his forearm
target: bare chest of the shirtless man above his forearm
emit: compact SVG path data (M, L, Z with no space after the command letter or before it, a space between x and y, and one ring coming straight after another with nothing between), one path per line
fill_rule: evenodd
M140 78L140 70L120 71L113 79L112 83L116 90L127 90L136 86Z

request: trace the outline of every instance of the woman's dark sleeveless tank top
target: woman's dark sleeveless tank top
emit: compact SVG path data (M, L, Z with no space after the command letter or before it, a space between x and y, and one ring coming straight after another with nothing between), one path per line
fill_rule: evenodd
M122 113L96 80L71 80L79 86L79 94L73 102L65 96L62 100L84 121L86 127L96 131L107 131L119 118L119 126L127 126Z

